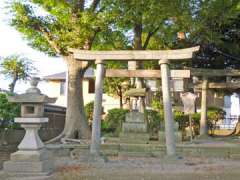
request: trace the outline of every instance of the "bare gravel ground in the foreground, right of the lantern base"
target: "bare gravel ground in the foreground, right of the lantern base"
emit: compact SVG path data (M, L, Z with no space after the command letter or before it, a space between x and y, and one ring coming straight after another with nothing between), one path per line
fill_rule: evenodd
M107 163L58 159L56 180L239 180L240 161L110 157ZM62 165L61 165L62 164Z

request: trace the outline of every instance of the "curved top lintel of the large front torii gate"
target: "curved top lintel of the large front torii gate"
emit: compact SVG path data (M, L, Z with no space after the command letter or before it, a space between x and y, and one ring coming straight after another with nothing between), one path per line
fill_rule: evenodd
M121 51L91 51L69 49L75 59L84 61L95 60L181 60L190 59L199 46L177 50L121 50Z

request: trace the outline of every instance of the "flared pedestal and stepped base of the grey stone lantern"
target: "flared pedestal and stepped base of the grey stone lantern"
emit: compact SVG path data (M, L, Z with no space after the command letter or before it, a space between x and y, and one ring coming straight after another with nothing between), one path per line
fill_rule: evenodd
M53 160L39 138L38 129L48 118L15 118L26 130L18 146L11 154L10 161L4 162L3 169L9 175L46 176L53 171Z

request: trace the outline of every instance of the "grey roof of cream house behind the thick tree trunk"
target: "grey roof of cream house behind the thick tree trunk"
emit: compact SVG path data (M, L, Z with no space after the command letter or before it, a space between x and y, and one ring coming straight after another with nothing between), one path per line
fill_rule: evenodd
M84 73L84 78L94 78L94 69L88 68ZM66 72L51 74L48 76L44 76L45 80L66 80Z

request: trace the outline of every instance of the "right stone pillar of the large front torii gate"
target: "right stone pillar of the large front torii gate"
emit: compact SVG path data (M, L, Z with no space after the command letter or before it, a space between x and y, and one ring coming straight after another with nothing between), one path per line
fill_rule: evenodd
M171 96L170 96L169 61L160 60L159 64L161 66L161 75L162 75L162 93L163 93L167 155L173 156L176 154L176 144L175 144L175 135L174 135L172 103L171 103Z

